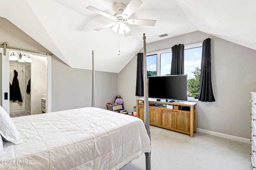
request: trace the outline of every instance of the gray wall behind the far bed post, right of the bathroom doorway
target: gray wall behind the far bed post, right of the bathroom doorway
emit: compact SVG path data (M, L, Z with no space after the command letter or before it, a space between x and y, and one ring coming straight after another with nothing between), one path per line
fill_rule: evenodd
M118 74L95 71L95 107L106 109L118 92ZM92 106L92 70L70 68L52 57L52 111Z

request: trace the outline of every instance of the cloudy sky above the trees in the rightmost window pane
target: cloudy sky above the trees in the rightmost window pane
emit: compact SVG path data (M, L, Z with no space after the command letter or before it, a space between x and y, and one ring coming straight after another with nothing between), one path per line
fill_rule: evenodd
M201 69L202 47L184 50L184 74L188 74L188 79L195 78L195 67Z

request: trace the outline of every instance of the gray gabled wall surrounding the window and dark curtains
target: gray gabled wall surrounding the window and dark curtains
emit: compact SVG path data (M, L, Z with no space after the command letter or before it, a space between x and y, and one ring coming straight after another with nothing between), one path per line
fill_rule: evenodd
M249 99L250 92L256 91L255 50L200 31L148 43L146 49L151 52L179 43L203 41L208 37L211 38L212 86L216 102L197 102L197 127L250 139ZM118 74L118 93L129 100L124 103L128 111L132 111L132 107L136 105L136 62L135 56Z

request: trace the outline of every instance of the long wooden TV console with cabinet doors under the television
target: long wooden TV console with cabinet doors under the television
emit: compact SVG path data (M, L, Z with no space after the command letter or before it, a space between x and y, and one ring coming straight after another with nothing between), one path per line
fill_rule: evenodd
M196 133L196 102L166 102L166 100L157 101L156 99L148 98L148 103L154 104L154 106L149 106L150 125L186 133L190 137L193 137L194 133ZM176 106L176 109L168 109L163 105ZM137 117L144 121L144 98L137 99L136 111Z

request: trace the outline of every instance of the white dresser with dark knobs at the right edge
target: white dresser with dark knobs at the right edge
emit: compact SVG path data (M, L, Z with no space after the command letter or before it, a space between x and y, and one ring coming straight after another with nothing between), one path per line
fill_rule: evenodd
M252 151L251 151L251 161L252 161L252 168L256 170L256 92L251 92L252 94Z

